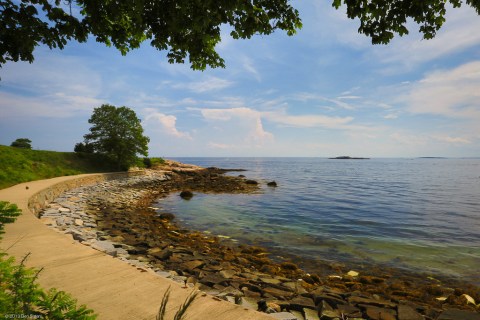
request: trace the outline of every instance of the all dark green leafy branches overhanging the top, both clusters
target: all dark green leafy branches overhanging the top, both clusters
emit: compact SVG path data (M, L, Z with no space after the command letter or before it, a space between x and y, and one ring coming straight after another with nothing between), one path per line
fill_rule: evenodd
M462 1L333 0L332 5L342 3L348 17L360 20L360 33L373 43L388 43L395 34L408 33L408 19L420 25L426 39L434 37L445 21L446 4L459 7ZM466 3L480 13L479 0ZM0 0L0 67L9 60L32 62L40 44L63 48L89 36L122 54L148 40L167 50L171 63L188 58L193 69L223 67L215 46L224 25L236 39L277 29L293 35L302 26L289 0Z

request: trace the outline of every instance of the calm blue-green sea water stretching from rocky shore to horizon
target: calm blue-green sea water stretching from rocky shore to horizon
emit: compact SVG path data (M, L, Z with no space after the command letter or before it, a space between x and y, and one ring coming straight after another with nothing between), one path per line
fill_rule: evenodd
M242 168L248 178L278 183L262 183L253 195L159 200L160 210L191 229L305 259L375 263L480 284L480 159L176 160Z

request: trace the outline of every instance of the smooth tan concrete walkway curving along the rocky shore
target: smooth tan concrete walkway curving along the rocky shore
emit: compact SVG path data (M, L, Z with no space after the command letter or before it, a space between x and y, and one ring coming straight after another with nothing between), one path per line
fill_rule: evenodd
M22 183L0 190L0 201L15 203L23 211L15 223L6 225L0 248L17 261L30 253L26 265L43 268L38 279L43 288L55 287L71 293L79 304L95 310L101 320L155 319L163 294L171 286L167 319L173 319L189 290L79 244L49 229L28 210L28 199L35 193L83 176L87 175ZM211 296L197 298L187 312L187 319L272 320L266 314Z

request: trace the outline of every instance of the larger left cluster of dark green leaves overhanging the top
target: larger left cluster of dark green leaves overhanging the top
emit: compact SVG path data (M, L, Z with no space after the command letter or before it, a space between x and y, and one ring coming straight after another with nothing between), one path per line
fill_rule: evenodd
M67 5L0 0L0 66L9 60L32 62L39 44L63 49L69 40L85 42L92 35L122 54L149 40L168 50L170 63L183 63L188 56L193 69L223 67L215 45L225 24L236 39L276 29L292 35L301 26L288 0L67 0Z

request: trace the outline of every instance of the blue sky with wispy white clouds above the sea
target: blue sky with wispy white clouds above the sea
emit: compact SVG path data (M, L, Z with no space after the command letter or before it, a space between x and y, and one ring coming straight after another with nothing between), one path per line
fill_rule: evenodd
M93 108L127 106L163 157L478 157L480 17L447 10L433 40L418 26L388 45L358 34L329 1L294 1L303 28L234 40L225 69L172 65L145 43L122 56L93 39L38 47L0 69L0 144L73 151Z

